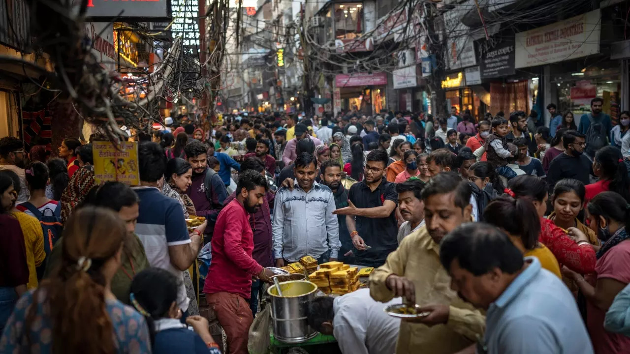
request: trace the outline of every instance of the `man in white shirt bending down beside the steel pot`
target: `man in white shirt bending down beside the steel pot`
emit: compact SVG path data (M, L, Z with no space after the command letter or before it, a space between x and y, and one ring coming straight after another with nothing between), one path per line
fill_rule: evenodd
M343 354L394 354L400 320L383 309L401 303L400 297L377 302L367 288L336 298L316 297L308 304L309 326L335 336Z

